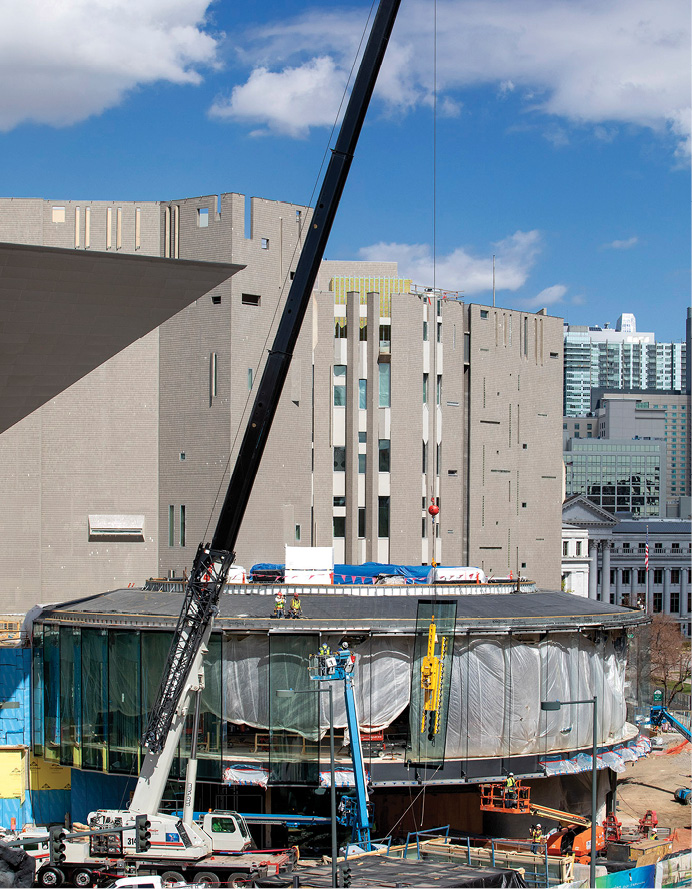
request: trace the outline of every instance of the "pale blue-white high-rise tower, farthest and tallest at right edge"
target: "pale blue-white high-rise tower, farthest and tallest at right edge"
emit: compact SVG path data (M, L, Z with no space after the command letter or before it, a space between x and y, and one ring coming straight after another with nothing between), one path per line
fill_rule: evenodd
M589 413L594 388L685 391L686 342L657 343L637 332L634 315L621 315L614 329L566 324L564 348L566 417Z

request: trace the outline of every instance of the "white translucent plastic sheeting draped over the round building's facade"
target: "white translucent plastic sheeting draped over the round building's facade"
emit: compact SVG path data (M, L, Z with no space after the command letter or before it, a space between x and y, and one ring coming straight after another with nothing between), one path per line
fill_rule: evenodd
M540 641L536 635L527 640L509 634L457 636L447 758L546 754L591 744L593 706L565 705L546 712L541 710L544 700L583 701L596 695L599 743L624 740L623 635L615 641L604 633L594 636L576 632L544 636ZM328 641L337 644L338 639ZM413 641L412 637L375 636L355 649L359 720L370 731L386 728L408 706ZM304 687L303 682L300 687ZM270 670L266 636L224 638L223 688L226 719L268 729ZM297 696L296 709L304 706L307 712L314 707L311 698ZM329 725L327 695L320 696L320 704L320 734L324 735ZM296 725L300 723L301 719L296 718ZM338 683L334 685L334 724L336 728L346 725Z

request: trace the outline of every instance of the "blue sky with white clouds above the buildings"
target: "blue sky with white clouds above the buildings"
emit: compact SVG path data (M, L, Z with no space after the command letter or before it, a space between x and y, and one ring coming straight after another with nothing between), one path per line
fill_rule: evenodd
M0 195L307 203L369 8L0 0ZM402 0L327 257L682 339L689 71L687 0Z

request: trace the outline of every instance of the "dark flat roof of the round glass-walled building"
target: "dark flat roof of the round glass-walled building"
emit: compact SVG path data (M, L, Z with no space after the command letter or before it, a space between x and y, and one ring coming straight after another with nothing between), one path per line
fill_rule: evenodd
M645 622L646 613L562 592L474 594L436 597L435 587L416 587L416 595L401 595L391 587L301 588L302 617L275 619L274 596L279 585L233 586L219 602L215 629L231 633L364 632L411 634L416 631L421 599L457 603L457 632L498 633L522 630L578 630L585 627L625 627ZM287 597L291 589L286 590ZM406 588L410 590L411 588ZM477 588L474 588L477 589ZM368 595L363 595L365 591ZM171 629L175 627L183 594L143 589L113 590L44 608L39 618L51 623Z

